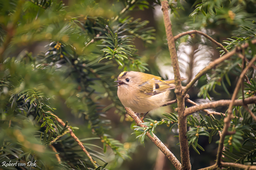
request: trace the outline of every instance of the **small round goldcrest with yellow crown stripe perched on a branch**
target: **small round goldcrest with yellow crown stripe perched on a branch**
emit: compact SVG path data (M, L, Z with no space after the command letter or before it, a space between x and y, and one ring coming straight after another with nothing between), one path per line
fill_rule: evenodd
M185 78L181 78L184 81ZM122 105L132 111L146 114L163 106L170 100L170 89L174 89L174 79L161 80L161 77L142 72L122 72L117 77L117 96ZM138 115L139 116L139 115ZM142 119L144 118L142 117Z

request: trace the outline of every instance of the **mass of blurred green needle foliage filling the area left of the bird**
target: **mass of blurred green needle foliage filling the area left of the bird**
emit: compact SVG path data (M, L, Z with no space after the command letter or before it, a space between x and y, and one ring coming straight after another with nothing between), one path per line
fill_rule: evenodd
M106 169L107 163L102 157L107 150L111 150L116 159L130 158L129 150L107 134L111 122L104 118L106 111L116 107L116 111L124 115L124 110L114 93L117 65L100 60L107 58L104 58L107 54L125 69L147 70L147 64L140 61L132 43L135 37L152 43L155 30L146 27L147 21L124 17L124 14L136 8L148 8L150 4L124 1L121 11L97 16L108 6L94 1L79 3L73 8L55 0L1 2L4 17L0 43L7 44L0 71L2 161L36 161L38 169ZM16 29L11 41L10 32L5 31L8 23ZM48 43L45 52L24 51L18 55L13 51L43 41ZM112 101L109 106L99 103L105 98ZM80 141L96 166L69 134L68 128L74 133L79 128L68 122L62 126L55 116L60 112L52 105L59 100L65 102L73 116L82 118L87 131L92 132ZM96 144L91 143L92 139ZM56 151L53 149L53 152L52 147ZM57 161L56 152L61 162Z

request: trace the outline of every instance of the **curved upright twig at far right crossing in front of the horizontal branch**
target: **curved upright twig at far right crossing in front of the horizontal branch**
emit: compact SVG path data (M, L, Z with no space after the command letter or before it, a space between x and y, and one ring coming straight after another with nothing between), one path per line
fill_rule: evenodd
M240 85L243 82L244 74L248 71L248 69L250 67L252 67L252 64L254 63L254 61L256 61L256 56L249 62L248 66L240 74L238 82L237 82L237 86L235 87L234 93L232 95L232 99L231 99L231 102L230 102L229 108L228 108L228 116L224 119L224 127L223 127L223 131L221 133L222 135L219 140L219 148L218 148L218 154L217 154L217 158L216 158L216 165L218 167L221 165L220 161L221 161L221 156L222 156L222 150L224 147L224 138L228 133L228 128L230 127L230 121L233 117L232 116L232 108L234 106L235 98L237 97ZM242 102L243 102L243 100L242 100ZM245 103L245 101L244 101L244 103Z

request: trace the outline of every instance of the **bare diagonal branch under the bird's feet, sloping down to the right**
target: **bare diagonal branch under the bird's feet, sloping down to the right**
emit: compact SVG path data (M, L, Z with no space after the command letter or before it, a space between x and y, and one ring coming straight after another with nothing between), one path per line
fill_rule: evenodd
M137 123L140 127L147 127L144 124L140 124L140 123L142 123L141 120L139 119L139 117L137 117L137 115L132 111L131 108L125 107L125 109L126 109L126 113L129 114L129 116L134 119L135 123ZM159 138L157 138L155 136L154 133L153 133L153 135L154 135L154 137L152 137L149 132L146 133L146 136L149 137L151 139L151 141L153 143L155 143L155 145L165 154L165 156L171 161L173 166L176 169L181 169L181 164L180 164L179 160L174 156L173 153L171 153L171 151L164 145L164 143L161 142L159 140Z

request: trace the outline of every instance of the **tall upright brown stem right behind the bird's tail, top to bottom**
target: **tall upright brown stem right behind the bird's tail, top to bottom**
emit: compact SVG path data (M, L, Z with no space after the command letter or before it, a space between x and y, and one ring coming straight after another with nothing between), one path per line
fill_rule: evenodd
M180 69L178 57L175 49L175 42L172 32L172 26L169 16L169 4L168 1L161 1L164 24L165 24L165 32L168 41L168 48L171 57L171 64L174 70L174 80L175 80L175 94L177 97L177 106L178 106L178 124L179 124L179 141L180 141L180 153L181 153L181 164L183 169L191 169L190 157L189 157L189 146L188 139L186 138L186 117L184 117L185 110L185 101L184 96L182 96L183 88L181 87L180 81Z

